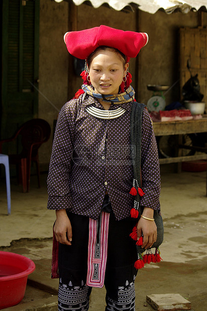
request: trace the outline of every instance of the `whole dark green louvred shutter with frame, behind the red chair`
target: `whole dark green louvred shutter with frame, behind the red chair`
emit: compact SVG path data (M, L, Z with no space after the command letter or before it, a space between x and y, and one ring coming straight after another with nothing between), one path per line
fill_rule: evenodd
M2 137L37 117L40 0L3 0Z

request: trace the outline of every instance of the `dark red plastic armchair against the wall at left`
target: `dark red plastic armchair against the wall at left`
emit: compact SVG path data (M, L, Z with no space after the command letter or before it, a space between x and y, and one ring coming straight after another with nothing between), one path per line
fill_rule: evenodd
M24 123L15 132L13 137L0 140L0 153L2 153L3 143L16 140L17 146L19 144L21 145L21 152L18 154L9 154L9 163L16 164L19 169L17 173L18 177L21 177L23 192L29 192L32 161L36 162L38 186L40 187L38 149L49 139L50 133L51 128L47 121L43 119L32 119Z

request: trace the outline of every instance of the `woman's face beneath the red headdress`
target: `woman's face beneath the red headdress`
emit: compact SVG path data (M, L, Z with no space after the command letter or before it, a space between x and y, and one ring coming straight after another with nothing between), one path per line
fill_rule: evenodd
M128 63L124 65L124 60L118 53L112 50L98 51L89 67L94 91L104 95L118 94L128 66Z

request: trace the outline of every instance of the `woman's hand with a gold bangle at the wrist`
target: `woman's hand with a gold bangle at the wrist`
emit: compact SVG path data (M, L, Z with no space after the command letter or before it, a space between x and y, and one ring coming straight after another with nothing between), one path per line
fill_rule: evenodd
M144 208L142 213L143 216L148 218L153 218L154 211L151 208ZM140 218L137 224L137 237L138 239L142 236L143 233L143 245L142 248L152 247L154 242L157 240L157 226L154 221Z

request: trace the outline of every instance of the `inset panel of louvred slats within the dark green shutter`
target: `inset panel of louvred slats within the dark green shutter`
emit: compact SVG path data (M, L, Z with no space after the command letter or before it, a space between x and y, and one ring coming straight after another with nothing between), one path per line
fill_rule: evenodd
M34 82L35 2L9 1L8 92L28 92Z

